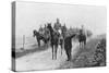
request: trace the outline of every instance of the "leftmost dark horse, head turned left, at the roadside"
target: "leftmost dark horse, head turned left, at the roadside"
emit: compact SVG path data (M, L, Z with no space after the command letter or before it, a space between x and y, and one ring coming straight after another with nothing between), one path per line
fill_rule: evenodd
M48 42L49 38L45 38L44 35L39 34L36 29L33 31L34 37L36 36L38 47L40 47L40 40L43 40L45 44Z

